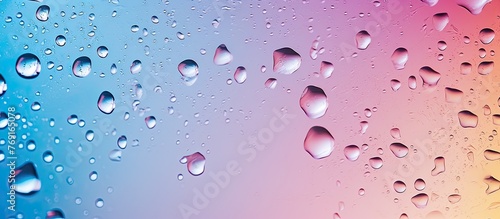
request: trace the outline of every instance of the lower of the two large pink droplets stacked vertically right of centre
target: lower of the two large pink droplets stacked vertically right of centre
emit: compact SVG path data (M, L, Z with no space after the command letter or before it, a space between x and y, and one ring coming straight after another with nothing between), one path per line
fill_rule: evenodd
M304 139L304 149L315 159L330 156L335 146L335 140L330 132L321 127L313 126Z

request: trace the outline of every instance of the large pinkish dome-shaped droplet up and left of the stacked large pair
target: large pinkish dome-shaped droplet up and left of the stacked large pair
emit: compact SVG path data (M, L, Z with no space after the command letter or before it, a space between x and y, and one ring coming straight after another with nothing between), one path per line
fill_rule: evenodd
M280 74L292 74L300 68L302 57L293 49L284 47L273 52L273 71Z

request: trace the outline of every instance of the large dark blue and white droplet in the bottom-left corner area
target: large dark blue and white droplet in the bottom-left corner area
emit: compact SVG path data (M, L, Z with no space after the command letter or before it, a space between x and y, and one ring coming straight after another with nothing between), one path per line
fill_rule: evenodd
M20 194L31 195L40 191L42 187L35 165L32 162L26 162L16 168L15 179L15 191Z

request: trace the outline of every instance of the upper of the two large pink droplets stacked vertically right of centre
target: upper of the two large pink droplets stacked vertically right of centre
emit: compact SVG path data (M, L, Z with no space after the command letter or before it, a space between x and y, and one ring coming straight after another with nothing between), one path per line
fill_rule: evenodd
M317 119L325 115L328 98L323 89L309 85L302 92L299 104L309 118Z

